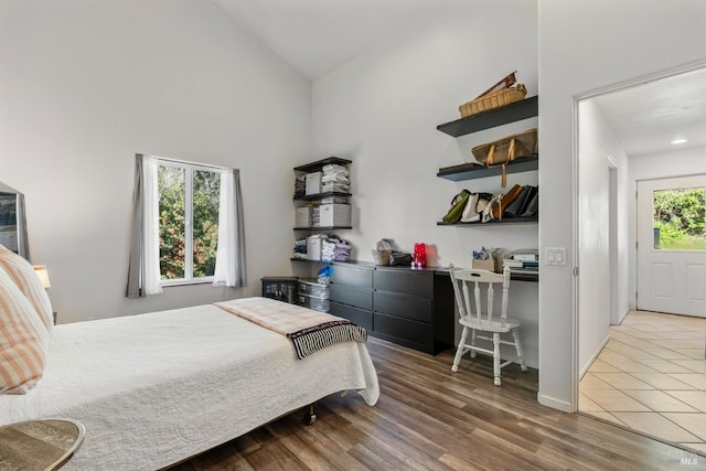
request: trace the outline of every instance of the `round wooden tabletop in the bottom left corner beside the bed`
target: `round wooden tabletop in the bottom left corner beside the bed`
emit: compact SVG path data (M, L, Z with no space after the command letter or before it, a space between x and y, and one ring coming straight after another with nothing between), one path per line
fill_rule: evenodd
M84 440L83 424L66 419L29 420L0 427L0 469L56 470Z

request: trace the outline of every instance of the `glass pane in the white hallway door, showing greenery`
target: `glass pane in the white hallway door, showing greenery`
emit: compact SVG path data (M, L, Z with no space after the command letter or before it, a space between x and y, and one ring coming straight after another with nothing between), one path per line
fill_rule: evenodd
M706 250L706 189L657 190L653 193L654 248Z

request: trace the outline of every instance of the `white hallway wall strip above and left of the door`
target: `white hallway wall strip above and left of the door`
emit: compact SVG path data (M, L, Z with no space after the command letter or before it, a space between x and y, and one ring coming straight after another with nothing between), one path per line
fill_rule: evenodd
M651 153L630 157L630 191L634 194L640 180L653 180L670 176L706 174L706 148L673 150L671 152ZM638 237L637 204L630 206L630 246L634 247ZM630 308L635 309L637 299L637 250L630 251Z

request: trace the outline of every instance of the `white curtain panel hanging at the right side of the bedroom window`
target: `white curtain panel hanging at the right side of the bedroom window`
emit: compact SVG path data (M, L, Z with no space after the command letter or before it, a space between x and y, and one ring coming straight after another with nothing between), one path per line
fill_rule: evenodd
M243 197L238 170L227 169L221 172L220 202L218 249L213 285L233 288L247 286Z

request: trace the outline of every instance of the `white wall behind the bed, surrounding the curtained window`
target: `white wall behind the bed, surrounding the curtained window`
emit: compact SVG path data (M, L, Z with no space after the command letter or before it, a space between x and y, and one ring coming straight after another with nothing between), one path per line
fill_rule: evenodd
M259 292L288 274L311 85L200 0L0 2L0 181L26 197L60 322ZM135 153L240 169L248 288L124 298Z

